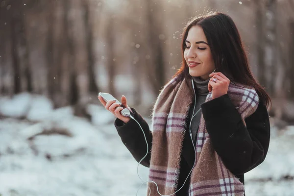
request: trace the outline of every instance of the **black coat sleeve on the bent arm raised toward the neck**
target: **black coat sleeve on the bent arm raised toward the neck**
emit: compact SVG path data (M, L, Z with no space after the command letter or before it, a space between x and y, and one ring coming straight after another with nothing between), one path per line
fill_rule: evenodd
M261 101L245 119L246 126L227 94L203 103L201 108L212 145L227 169L241 175L264 161L270 144L270 120Z

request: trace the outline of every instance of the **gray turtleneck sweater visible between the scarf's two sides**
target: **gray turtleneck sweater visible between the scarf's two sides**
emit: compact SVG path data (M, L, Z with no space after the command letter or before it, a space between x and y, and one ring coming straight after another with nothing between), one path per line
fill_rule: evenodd
M193 77L193 81L194 81L194 89L196 92L196 107L195 107L195 111L194 114L196 114L196 112L201 108L201 104L205 102L206 96L209 93L208 91L208 82L209 82L208 78L205 81L202 81L199 77ZM194 103L195 100L193 100L192 105L189 109L189 119L191 120L192 118L192 114L193 114L193 109L194 109ZM202 111L200 110L195 117L193 118L192 122L191 122L191 132L192 132L192 139L194 142L194 146L195 146L195 138L196 138L196 134L198 131L198 126L200 123L200 117L201 117ZM188 128L190 127L190 124L188 124ZM187 130L189 131L189 130Z

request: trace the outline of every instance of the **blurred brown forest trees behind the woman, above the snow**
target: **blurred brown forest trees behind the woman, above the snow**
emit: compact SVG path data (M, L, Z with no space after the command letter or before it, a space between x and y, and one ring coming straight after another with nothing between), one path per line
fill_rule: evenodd
M2 0L0 94L45 95L83 116L107 92L148 114L180 68L186 22L212 10L236 22L270 114L293 123L294 0Z

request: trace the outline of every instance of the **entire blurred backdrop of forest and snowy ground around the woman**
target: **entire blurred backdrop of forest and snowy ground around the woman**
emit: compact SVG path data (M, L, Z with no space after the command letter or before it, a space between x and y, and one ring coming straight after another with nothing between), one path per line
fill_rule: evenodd
M182 29L209 11L233 18L272 98L246 196L294 196L294 0L0 0L0 196L134 195L138 163L98 92L125 95L151 125Z

